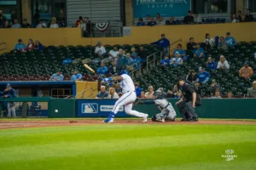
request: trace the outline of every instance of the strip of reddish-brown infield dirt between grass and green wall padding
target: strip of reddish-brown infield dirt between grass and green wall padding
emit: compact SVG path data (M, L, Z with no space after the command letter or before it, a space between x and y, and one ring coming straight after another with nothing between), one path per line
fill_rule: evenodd
M21 127L55 127L55 126L86 126L92 124L102 124L103 119L83 119L83 120L1 120L0 129L21 128ZM116 119L113 124L144 124L139 119ZM148 120L147 124L253 124L256 121L229 121L229 120L201 120L199 122L151 122Z

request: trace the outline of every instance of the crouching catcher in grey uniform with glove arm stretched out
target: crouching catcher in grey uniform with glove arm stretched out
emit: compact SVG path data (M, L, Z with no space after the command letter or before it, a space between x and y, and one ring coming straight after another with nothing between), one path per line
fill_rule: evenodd
M166 122L175 121L176 111L173 109L172 104L163 98L163 92L157 90L153 94L154 100L139 100L137 99L133 105L150 105L155 104L160 109L160 113L152 116L151 120L153 122Z

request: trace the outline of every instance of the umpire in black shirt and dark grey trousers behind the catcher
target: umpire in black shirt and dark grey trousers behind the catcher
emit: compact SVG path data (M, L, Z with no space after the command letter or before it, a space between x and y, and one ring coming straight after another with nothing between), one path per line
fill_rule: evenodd
M180 99L176 105L183 117L183 122L197 122L198 117L195 113L195 106L201 105L201 96L195 93L193 88L188 82L185 82L183 77L178 79L179 87L183 93L183 98Z

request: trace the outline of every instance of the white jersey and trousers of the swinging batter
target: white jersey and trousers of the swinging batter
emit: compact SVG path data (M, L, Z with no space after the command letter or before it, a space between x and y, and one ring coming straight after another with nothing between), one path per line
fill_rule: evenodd
M132 103L137 99L135 92L134 83L131 80L129 75L123 74L120 77L123 77L123 80L120 82L123 95L115 102L112 112L117 114L119 107L125 105L125 113L132 116L143 117L144 113L138 111L132 111Z

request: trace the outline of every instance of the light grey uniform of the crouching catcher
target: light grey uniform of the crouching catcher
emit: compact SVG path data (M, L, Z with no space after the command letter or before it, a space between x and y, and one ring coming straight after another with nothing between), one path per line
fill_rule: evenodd
M154 100L155 105L160 109L160 113L156 114L156 119L160 116L167 115L165 120L173 121L176 118L176 111L172 107L172 104L167 99L156 99Z

